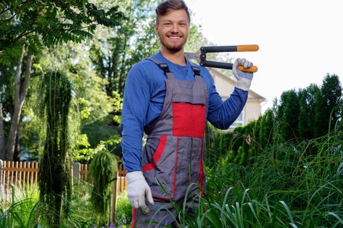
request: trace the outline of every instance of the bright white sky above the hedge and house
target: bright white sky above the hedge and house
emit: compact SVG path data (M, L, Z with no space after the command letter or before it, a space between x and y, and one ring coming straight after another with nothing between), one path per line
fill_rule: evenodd
M267 99L262 113L286 90L322 85L335 74L343 83L342 0L185 0L192 23L215 45L259 45L235 52L259 68L252 90ZM197 50L194 50L197 51Z

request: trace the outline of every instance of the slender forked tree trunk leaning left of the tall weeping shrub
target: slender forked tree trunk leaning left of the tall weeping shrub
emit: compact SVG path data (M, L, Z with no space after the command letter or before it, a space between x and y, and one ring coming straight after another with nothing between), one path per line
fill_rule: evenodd
M15 94L14 94L14 112L11 118L10 134L8 134L8 144L6 150L6 160L12 161L14 155L14 147L16 144L16 134L21 116L21 109L23 107L27 88L29 87L29 78L31 77L32 52L27 51L26 65L25 65L25 79L21 86L21 65L23 62L24 48L22 49L21 58L19 58L16 66L16 75L14 79Z

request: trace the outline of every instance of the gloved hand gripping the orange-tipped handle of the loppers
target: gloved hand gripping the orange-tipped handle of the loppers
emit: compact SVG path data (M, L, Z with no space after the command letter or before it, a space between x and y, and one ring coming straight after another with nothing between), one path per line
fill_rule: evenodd
M236 87L240 88L241 90L248 91L251 85L252 80L252 73L239 71L238 66L243 66L244 68L250 68L252 66L252 62L249 62L246 59L237 58L233 63L233 75L235 75L237 82Z

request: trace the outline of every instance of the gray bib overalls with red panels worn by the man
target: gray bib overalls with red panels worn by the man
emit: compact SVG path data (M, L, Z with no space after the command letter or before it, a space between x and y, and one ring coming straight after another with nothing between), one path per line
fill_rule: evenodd
M193 63L196 79L186 81L176 79L167 64L154 58L149 60L156 63L167 77L161 116L145 128L148 136L143 149L143 175L152 190L154 205L146 203L147 214L133 209L131 227L148 227L151 219L155 223L150 227L175 227L178 212L171 201L182 209L187 196L187 207L197 206L194 193L202 194L206 187L203 166L206 84L200 69ZM193 214L191 208L189 213Z

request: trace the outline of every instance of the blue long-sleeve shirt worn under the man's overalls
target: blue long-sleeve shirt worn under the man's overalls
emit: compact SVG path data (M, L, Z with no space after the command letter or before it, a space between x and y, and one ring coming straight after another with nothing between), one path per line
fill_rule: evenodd
M176 79L195 80L188 60L186 66L180 66L164 58L161 52L156 53L154 58L167 63ZM243 110L248 92L235 88L230 97L223 102L220 94L215 90L209 71L202 66L199 68L207 86L206 118L213 126L228 129ZM123 164L128 172L142 170L143 128L151 125L162 112L166 90L165 79L161 68L150 60L135 64L126 78L121 118L121 147Z

